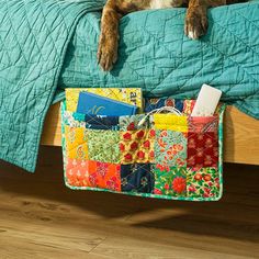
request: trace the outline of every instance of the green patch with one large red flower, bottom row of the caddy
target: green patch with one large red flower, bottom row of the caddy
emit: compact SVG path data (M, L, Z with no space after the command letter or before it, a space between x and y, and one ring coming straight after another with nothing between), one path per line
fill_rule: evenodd
M154 165L155 194L170 196L185 196L187 194L187 169Z

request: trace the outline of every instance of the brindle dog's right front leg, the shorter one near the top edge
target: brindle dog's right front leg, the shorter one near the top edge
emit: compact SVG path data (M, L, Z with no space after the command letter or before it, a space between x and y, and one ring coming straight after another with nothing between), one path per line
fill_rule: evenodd
M185 35L192 40L204 35L207 31L207 9L225 4L226 0L190 0L185 16Z

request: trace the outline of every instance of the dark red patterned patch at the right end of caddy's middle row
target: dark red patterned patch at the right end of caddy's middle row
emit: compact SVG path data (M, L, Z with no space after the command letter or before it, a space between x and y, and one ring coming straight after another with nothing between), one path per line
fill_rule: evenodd
M217 167L218 138L213 132L188 133L188 167Z

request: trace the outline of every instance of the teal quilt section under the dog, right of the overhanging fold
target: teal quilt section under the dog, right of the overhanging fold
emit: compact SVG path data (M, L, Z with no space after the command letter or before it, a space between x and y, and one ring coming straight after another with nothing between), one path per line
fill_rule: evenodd
M126 15L111 74L103 74L95 58L100 13L88 13L68 48L59 86L139 87L145 97L184 100L194 99L206 82L224 91L223 100L259 119L258 13L258 0L211 9L201 41L184 36L184 9Z

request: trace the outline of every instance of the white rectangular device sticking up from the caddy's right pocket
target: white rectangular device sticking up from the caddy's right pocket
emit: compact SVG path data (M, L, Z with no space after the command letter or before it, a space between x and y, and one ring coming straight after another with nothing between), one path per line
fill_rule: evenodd
M213 116L221 97L221 90L203 85L191 116Z

